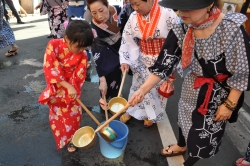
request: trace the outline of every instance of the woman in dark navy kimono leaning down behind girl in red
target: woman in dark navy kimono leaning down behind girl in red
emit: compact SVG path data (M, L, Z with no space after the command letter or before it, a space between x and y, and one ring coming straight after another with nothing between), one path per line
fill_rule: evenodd
M119 6L109 5L107 0L87 0L92 15L91 26L96 34L95 45L91 47L96 71L100 79L100 106L107 100L117 97L121 84L119 48L121 28L118 26Z

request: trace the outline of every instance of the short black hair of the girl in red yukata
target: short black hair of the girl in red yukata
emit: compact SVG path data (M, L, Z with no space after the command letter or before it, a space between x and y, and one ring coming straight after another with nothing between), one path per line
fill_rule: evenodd
M65 35L70 43L78 43L81 48L91 46L94 40L92 29L85 20L70 20Z

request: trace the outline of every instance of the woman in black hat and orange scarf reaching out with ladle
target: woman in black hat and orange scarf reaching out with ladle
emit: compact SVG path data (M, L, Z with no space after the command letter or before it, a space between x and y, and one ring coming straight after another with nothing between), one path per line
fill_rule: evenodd
M151 75L132 95L132 105L173 71L183 76L178 104L179 140L161 150L164 157L185 154L183 166L215 156L228 122L235 122L250 90L250 45L240 13L223 14L217 0L162 0L179 10ZM188 25L188 26L187 26Z

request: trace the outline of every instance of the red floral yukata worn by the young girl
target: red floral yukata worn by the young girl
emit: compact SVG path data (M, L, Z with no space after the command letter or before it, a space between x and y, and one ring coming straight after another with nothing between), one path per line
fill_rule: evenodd
M43 64L47 87L38 102L49 106L50 127L57 150L71 140L80 126L82 117L80 105L68 96L66 88L57 83L66 81L74 85L79 98L81 86L86 78L87 61L84 52L73 54L63 39L51 40L47 45ZM56 103L52 104L50 100L53 98L56 99Z

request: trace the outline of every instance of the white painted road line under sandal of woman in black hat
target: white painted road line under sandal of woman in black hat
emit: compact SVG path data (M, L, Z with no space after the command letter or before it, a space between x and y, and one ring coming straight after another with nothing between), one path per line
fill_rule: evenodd
M165 111L163 114L163 121L157 123L157 127L160 133L163 147L177 143L172 126ZM184 162L183 156L166 157L166 159L169 166L181 166Z

